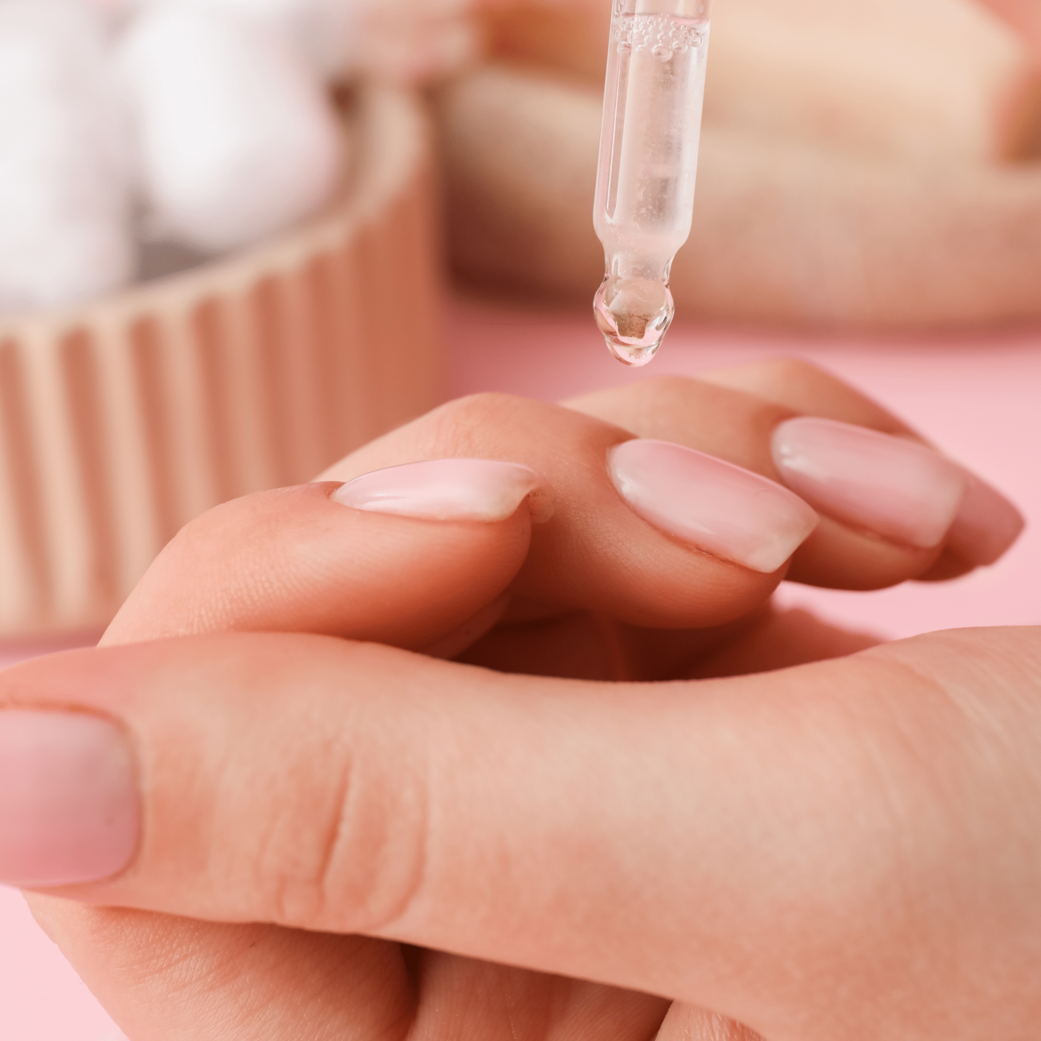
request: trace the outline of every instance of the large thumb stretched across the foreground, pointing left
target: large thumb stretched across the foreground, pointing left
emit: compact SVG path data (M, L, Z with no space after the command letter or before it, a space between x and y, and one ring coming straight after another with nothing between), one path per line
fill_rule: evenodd
M0 677L21 706L0 735L37 737L0 757L6 820L33 830L3 830L3 877L71 882L82 855L122 873L66 895L564 972L778 1041L1036 1017L1039 677L1026 630L656 687L293 635L72 653ZM26 711L69 705L123 730ZM128 741L132 791L62 787L105 748L125 770ZM76 845L62 799L117 824L141 805L136 852Z

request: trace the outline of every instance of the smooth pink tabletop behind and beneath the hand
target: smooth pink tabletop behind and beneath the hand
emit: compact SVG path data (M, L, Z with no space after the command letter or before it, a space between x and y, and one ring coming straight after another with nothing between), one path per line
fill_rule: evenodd
M729 332L678 323L650 370L607 355L591 313L450 308L450 397L503 390L562 398L659 374L696 375L756 358L798 356L856 383L977 469L1026 514L1027 529L990 568L944 585L843 593L785 584L787 604L888 636L959 626L1041 624L1041 330L951 338ZM79 642L83 642L80 640ZM0 648L0 665L51 648ZM116 1041L122 1035L18 893L0 887L3 1041Z

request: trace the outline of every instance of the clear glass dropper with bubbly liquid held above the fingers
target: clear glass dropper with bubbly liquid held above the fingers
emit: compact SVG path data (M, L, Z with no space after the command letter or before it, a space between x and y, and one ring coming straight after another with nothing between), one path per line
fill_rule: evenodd
M646 364L672 321L669 266L690 233L708 0L615 0L593 224L607 272L593 301L608 349ZM638 9L637 9L638 8Z

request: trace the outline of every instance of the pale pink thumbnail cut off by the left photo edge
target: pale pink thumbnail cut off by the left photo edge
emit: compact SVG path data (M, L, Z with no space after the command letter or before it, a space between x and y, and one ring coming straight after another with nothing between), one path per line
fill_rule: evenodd
M137 847L133 760L119 729L73 712L0 710L0 881L94 882Z

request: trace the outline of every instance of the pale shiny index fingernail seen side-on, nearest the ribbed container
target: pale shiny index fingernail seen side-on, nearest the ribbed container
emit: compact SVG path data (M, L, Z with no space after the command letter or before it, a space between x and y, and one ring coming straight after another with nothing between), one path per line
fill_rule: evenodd
M497 459L433 459L363 474L330 498L374 513L433 520L504 520L529 497L532 519L548 520L552 500L529 466Z

